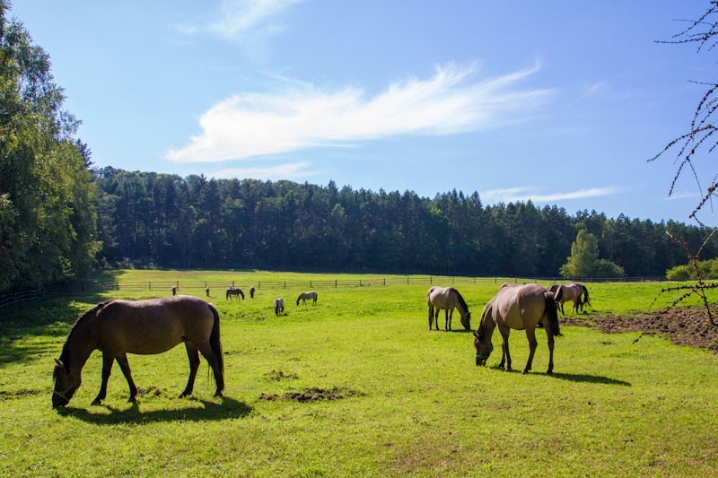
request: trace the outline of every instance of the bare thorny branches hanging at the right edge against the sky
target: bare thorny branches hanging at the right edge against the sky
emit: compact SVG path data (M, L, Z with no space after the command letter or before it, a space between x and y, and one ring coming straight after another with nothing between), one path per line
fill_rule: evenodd
M714 50L714 48L718 46L718 0L710 2L708 10L703 14L703 16L696 21L689 22L689 26L685 30L680 31L668 41L658 41L658 43L694 43L697 44L698 53L701 53L702 51L710 52ZM711 181L711 186L707 187L705 192L703 192L704 190L703 187L701 187L701 181L694 163L698 160L701 153L705 155L711 154L718 147L718 138L715 136L715 134L718 133L718 126L714 126L714 123L716 123L715 120L718 119L716 117L718 116L718 83L694 83L705 84L708 89L705 91L705 95L696 107L688 132L673 139L673 141L668 143L661 152L648 161L656 161L670 151L676 152L675 162L678 164L678 169L673 177L673 181L670 184L669 196L673 194L674 188L676 187L676 183L678 182L680 176L685 172L685 169L688 169L693 178L696 180L698 189L702 191L700 202L696 205L693 213L690 213L688 217L696 221L701 227L705 228L705 224L698 219L697 214L701 212L705 204L712 204L712 198L714 196L718 196L718 175L716 175ZM691 285L681 285L662 289L658 296L656 296L653 300L649 310L661 294L665 292L684 291L684 293L674 300L670 306L661 309L655 318L656 321L660 320L661 317L670 309L678 306L681 301L686 300L688 297L693 295L698 295L705 306L705 311L710 324L718 328L718 321L716 321L713 316L713 312L709 307L708 299L705 293L705 291L718 288L718 283L705 282L698 267L699 257L703 252L705 245L714 237L715 233L716 229L713 229L695 253L690 250L685 239L676 238L669 233L670 238L675 240L679 246L686 251L689 263L693 267L696 274L696 282ZM635 340L637 341L640 339L644 333L642 333Z

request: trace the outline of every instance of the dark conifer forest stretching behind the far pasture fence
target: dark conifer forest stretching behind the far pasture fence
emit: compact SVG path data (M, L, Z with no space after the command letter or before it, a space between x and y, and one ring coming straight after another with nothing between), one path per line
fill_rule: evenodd
M485 206L478 193L427 199L333 182L93 172L101 259L109 265L556 276L583 228L626 274L662 275L684 260L666 230L692 244L703 234L676 222L571 216L531 202ZM706 254L718 256L718 242Z

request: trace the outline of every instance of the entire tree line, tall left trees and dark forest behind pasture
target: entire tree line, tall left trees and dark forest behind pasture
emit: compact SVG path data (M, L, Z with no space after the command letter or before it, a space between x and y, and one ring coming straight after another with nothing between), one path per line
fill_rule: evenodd
M0 0L0 292L41 289L98 265L663 275L687 262L667 231L694 249L707 237L679 222L483 204L477 192L426 198L93 168L47 53L7 19L8 8ZM574 249L588 254L578 260ZM702 250L718 256L716 240ZM585 256L598 267L583 267Z

